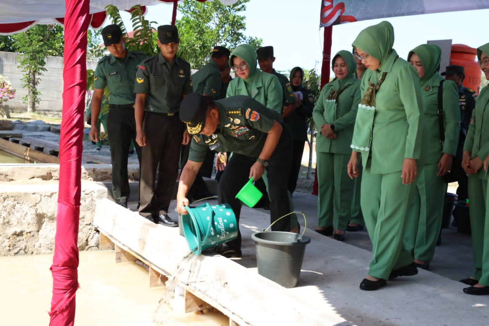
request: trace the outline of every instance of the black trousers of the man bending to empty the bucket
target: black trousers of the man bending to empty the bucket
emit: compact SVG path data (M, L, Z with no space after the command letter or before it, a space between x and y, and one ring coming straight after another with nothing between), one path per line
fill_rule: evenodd
M270 224L290 213L289 191L287 190L287 176L290 170L290 130L284 126L277 148L268 160L267 178L268 195L270 196ZM256 157L233 153L227 162L218 184L219 203L227 203L233 209L236 221L240 221L241 200L235 198L236 194L248 181L249 170L256 162ZM271 227L272 231L289 231L290 216L282 218ZM226 242L229 248L241 249L241 232L238 238Z

